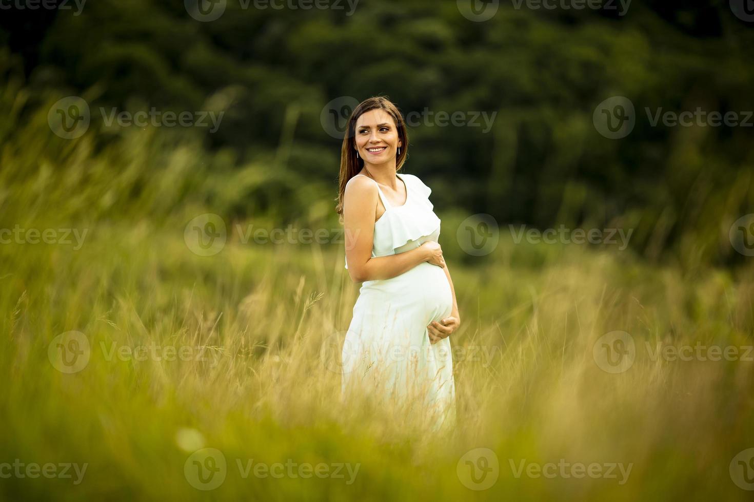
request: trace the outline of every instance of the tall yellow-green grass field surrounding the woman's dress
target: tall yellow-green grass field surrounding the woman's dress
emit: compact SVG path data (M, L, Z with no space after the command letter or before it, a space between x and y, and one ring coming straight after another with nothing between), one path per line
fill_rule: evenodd
M290 186L274 159L238 168L149 128L60 140L47 108L14 123L17 99L3 500L749 500L750 261L687 269L501 231L472 266L466 215L438 208L463 326L457 427L427 434L420 414L339 401L357 295L342 242L242 239L336 229L334 190L299 184L300 219L241 210ZM195 218L225 225L217 248Z

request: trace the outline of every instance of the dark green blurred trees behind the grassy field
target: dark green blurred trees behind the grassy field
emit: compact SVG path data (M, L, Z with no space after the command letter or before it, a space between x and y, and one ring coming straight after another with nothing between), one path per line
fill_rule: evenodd
M154 141L149 163L169 155L155 145L189 145L221 159L204 163L197 181L185 182L192 169L176 175L184 182L175 189L184 191L163 200L222 199L222 209L241 217L320 219L334 205L340 145L320 120L323 107L341 96L385 94L404 116L497 112L486 133L436 122L412 127L405 169L433 188L440 211L486 212L503 226L633 228L636 251L688 266L743 258L727 239L730 224L754 211L754 127L652 126L645 111L754 109L754 26L728 2L632 2L623 16L501 2L483 23L467 20L456 2L361 0L351 16L345 3L308 11L225 5L211 22L193 19L183 2L146 0L91 2L78 16L4 14L5 90L15 89L3 105L11 120L4 141L34 153L28 169L49 165L65 178L66 155L77 151L66 143L87 141L97 155L141 141L137 132L103 126L100 107L224 111L213 134L162 128L154 140L144 133L145 145ZM44 117L69 95L90 103L87 134L24 143L32 140L14 123ZM605 138L593 124L595 108L611 96L635 106L636 126L625 138ZM35 135L52 136L35 123ZM150 167L139 189L115 197L137 200L161 169L170 168Z

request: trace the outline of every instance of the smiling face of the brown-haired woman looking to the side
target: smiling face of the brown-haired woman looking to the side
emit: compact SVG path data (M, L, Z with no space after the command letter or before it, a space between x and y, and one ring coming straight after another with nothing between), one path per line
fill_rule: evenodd
M395 159L397 149L403 146L395 120L380 108L361 114L356 121L355 140L360 157L370 164Z

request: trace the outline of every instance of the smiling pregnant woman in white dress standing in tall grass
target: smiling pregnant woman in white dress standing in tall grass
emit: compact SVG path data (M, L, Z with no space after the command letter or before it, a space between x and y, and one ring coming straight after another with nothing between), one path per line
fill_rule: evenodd
M388 99L366 99L354 109L337 211L345 268L363 284L342 350L342 392L385 399L437 430L455 424L448 337L461 320L431 190L398 172L408 147L406 124Z

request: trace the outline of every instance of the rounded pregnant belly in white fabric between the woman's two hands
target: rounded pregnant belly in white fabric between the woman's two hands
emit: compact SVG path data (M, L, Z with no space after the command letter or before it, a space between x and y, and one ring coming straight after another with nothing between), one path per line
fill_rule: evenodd
M359 293L357 301L388 302L395 309L418 316L424 326L447 317L453 309L445 270L427 262L394 278L366 281Z

